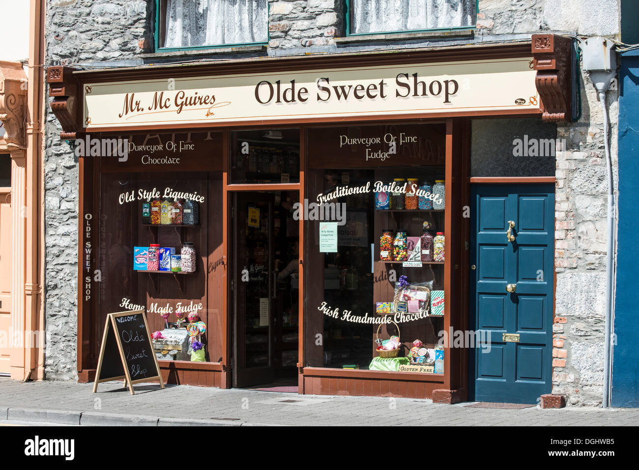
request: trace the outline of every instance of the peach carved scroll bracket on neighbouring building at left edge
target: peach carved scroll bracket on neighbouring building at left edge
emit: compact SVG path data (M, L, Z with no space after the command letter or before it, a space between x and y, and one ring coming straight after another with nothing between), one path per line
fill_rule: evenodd
M27 75L19 62L0 61L0 121L8 148L24 149Z

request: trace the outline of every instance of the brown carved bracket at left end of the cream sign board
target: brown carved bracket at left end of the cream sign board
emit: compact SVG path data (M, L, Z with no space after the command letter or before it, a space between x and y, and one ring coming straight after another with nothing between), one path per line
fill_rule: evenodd
M51 110L58 117L62 132L60 138L75 140L80 137L78 107L78 84L73 77L72 67L61 65L50 66L47 69L47 82L49 83L49 95L53 96Z

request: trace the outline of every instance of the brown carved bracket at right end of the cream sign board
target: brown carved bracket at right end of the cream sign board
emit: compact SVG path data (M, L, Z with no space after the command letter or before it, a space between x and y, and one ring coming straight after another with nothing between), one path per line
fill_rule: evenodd
M533 34L533 68L544 121L571 119L572 41L557 34Z

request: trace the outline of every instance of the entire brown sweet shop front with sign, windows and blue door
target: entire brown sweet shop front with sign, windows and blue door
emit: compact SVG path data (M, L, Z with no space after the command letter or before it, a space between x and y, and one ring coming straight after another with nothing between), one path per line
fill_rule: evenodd
M569 119L542 52L50 68L81 172L81 381L106 315L144 308L167 383L549 393L552 275L531 276L553 269L554 178L470 161L472 119Z

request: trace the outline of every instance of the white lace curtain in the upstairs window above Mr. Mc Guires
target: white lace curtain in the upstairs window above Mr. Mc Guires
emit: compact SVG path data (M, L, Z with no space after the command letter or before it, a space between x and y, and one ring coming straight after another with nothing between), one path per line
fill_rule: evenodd
M164 47L266 42L268 0L166 0Z

